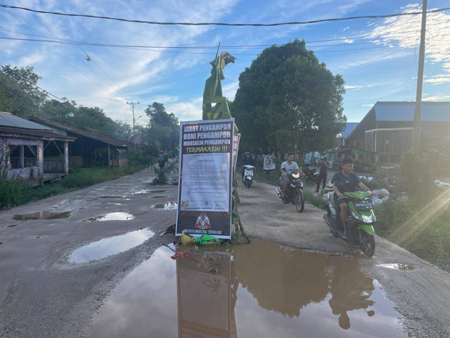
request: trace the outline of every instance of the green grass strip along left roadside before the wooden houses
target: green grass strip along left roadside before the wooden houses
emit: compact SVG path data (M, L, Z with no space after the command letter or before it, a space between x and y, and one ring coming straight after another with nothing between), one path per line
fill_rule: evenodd
M70 168L68 177L63 180L38 187L28 187L24 182L0 178L0 210L115 180L143 168L146 168L146 165L126 165L119 168Z

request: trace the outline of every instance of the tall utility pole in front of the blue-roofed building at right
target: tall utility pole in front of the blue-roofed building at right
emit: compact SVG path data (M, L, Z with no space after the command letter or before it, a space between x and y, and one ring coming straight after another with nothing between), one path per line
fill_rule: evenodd
M427 0L422 4L422 29L420 30L419 65L417 72L416 108L414 108L413 121L413 154L419 154L420 146L420 120L422 120L422 84L423 63L425 62L425 26L427 23Z

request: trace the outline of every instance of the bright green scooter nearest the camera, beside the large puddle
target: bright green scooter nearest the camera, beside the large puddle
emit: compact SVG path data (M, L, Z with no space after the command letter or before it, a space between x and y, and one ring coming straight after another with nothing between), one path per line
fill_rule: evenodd
M340 184L336 185L340 189ZM373 225L376 222L376 218L373 213L371 192L344 192L342 199L345 199L348 204L348 214L345 218L347 238L342 237L344 227L338 207L335 204L334 192L329 192L326 196L326 209L328 212L323 215L323 219L330 227L331 234L334 237L344 239L349 244L358 245L359 249L367 257L373 256L373 253L375 253L375 230L373 230Z

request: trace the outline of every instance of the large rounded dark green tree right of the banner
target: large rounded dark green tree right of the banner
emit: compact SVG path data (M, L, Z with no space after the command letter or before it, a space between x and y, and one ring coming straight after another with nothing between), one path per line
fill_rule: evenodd
M263 151L323 151L345 127L344 80L305 42L264 49L239 76L231 104L241 144Z

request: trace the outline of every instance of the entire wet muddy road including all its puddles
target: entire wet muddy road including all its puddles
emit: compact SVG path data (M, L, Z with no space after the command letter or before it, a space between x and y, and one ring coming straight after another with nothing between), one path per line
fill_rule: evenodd
M208 303L217 299L229 304L229 337L303 337L295 335L300 327L304 337L383 337L371 327L406 337L403 325L411 337L450 337L449 274L379 237L375 256L364 258L330 235L322 211L307 205L297 213L267 184L240 187L239 211L252 238L278 244L222 248L214 261L229 268L218 266L219 275L205 271L203 253L192 253L200 263L172 261L162 244L175 239L163 233L175 221L177 187L150 186L152 175L143 170L0 213L0 337L176 337L200 330L192 311L212 313ZM189 290L199 283L215 300L203 293L195 305ZM211 317L222 318L224 309L216 311ZM318 318L323 325L311 325ZM124 331L111 331L113 323ZM264 323L270 330L259 332Z

